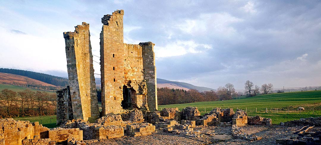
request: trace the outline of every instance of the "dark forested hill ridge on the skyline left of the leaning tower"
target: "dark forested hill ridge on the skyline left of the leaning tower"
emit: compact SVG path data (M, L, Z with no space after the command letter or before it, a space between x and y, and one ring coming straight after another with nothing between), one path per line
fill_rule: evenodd
M17 74L17 75L29 77L31 79L35 79L38 81L43 81L45 83L52 84L54 86L66 87L68 85L68 79L45 74L45 73L37 73L37 72L8 69L8 68L0 68L0 73Z

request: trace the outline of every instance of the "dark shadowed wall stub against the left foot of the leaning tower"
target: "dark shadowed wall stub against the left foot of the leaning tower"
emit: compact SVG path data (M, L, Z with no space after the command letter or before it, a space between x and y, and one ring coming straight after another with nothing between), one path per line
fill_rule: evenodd
M57 124L62 124L68 120L74 119L73 107L71 104L69 86L56 91L57 94Z

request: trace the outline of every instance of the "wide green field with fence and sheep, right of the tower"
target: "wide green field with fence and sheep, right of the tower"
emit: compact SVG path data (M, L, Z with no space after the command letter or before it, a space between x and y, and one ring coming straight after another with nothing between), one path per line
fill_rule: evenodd
M238 108L247 110L247 114L250 116L268 117L272 119L273 124L279 124L294 119L321 116L321 91L274 93L238 100L162 105L158 106L158 109L178 107L179 110L182 110L187 106L198 107L202 115L205 114L205 109L206 112L209 112L215 107L233 108L234 110ZM300 113L297 110L298 107L304 107L305 110ZM266 113L266 109L268 113Z

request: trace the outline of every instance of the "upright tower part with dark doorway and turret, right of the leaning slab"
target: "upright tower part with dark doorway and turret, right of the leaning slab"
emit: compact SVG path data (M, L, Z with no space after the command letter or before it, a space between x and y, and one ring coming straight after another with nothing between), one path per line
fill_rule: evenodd
M100 33L100 71L103 116L120 114L122 109L157 110L154 44L124 43L123 15L124 10L117 10L101 18L103 27ZM130 98L124 99L126 93L130 94Z

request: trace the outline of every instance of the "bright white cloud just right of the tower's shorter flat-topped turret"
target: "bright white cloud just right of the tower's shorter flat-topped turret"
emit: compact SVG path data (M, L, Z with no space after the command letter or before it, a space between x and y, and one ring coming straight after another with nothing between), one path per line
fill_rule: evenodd
M211 49L212 46L208 44L198 44L193 40L188 41L175 41L167 44L164 47L155 46L154 51L156 57L169 57L185 55L187 53L201 53L207 49Z

